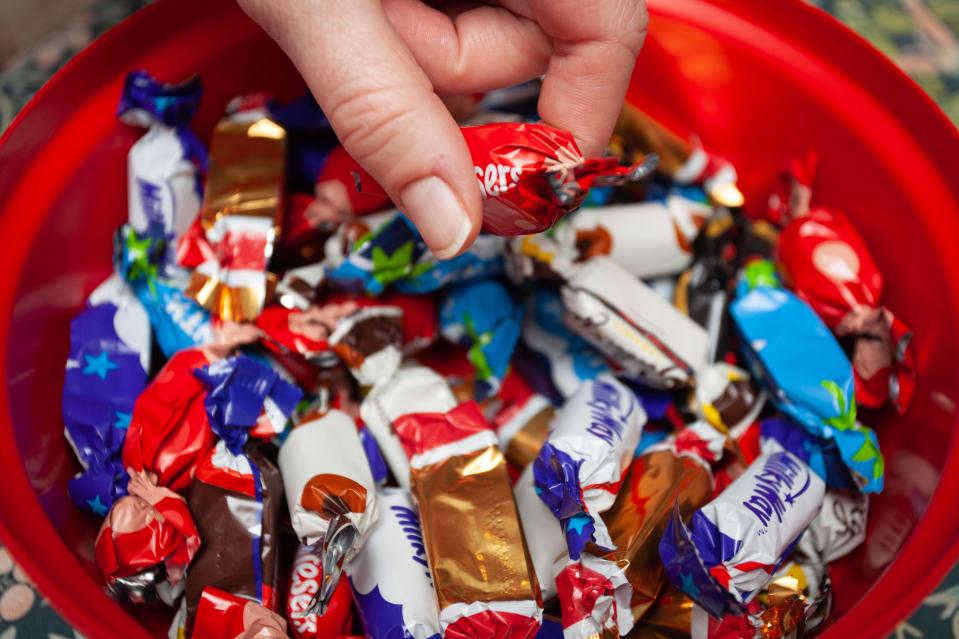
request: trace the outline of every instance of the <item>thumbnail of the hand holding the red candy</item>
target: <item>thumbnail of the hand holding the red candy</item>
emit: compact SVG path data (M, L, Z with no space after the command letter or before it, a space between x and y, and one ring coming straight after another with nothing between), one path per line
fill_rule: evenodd
M421 178L400 191L400 199L433 255L445 260L466 244L473 224L446 182L435 175Z

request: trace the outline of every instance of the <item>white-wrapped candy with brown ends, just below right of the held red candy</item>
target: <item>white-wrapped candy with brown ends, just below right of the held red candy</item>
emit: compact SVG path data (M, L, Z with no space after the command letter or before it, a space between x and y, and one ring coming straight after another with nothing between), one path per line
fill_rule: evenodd
M579 259L608 255L641 278L681 272L693 259L693 240L712 215L712 207L696 196L692 190L673 189L662 200L577 212L568 224L576 234Z

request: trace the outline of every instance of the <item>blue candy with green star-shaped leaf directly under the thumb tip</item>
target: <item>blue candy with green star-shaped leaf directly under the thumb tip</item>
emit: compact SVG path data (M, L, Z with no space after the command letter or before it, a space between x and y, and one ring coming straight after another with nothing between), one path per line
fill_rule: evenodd
M347 290L380 295L388 288L432 293L452 282L503 272L503 238L480 235L465 253L439 260L413 223L397 214L357 240L329 278Z

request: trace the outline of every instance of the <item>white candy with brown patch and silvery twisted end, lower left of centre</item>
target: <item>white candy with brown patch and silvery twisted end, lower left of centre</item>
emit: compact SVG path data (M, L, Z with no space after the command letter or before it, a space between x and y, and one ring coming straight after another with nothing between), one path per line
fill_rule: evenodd
M322 613L344 564L376 522L376 484L356 424L337 410L294 428L280 448L279 466L293 529L321 558Z

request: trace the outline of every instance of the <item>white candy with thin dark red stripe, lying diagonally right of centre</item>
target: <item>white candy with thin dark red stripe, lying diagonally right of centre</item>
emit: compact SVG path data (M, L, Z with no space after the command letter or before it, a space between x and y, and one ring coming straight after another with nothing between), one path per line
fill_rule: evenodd
M647 384L692 385L706 367L705 329L612 259L583 262L562 293L570 328Z

